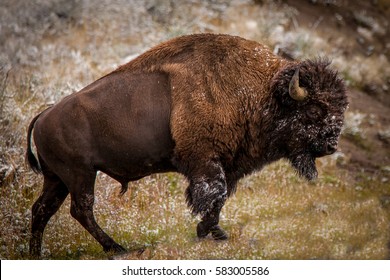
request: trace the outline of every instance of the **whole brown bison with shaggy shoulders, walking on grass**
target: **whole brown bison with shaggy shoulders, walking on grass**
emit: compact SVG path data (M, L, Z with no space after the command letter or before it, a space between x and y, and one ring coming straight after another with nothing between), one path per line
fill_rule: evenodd
M334 153L348 101L325 58L288 61L254 41L195 34L161 43L37 115L26 158L44 177L32 207L30 253L50 217L70 213L103 247L125 249L93 215L101 171L122 185L159 172L188 179L197 236L226 239L220 211L237 181L285 158L308 180ZM31 149L31 134L37 157Z

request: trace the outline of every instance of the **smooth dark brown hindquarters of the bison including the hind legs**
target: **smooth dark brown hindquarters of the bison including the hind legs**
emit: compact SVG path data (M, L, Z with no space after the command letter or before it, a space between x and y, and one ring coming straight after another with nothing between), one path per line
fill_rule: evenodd
M176 170L170 161L170 103L167 75L113 73L39 116L34 140L44 189L33 206L33 255L39 255L43 228L68 193L72 216L106 251L122 250L93 217L96 171L121 182L124 192L129 181Z

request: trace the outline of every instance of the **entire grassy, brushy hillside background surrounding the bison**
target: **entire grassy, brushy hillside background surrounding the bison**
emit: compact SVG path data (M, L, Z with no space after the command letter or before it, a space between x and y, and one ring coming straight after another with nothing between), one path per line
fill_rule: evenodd
M357 3L358 2L358 3ZM0 259L25 259L42 178L24 163L26 127L62 97L168 38L240 35L292 59L326 55L348 86L339 152L315 183L280 161L240 181L222 212L230 239L199 241L187 182L120 185L99 174L98 223L126 259L385 259L390 240L390 1L0 0ZM46 228L46 259L104 259L69 214Z

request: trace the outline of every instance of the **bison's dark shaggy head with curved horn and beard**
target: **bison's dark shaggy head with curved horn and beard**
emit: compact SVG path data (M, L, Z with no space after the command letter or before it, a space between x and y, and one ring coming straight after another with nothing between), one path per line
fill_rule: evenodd
M301 176L317 177L315 158L337 150L348 101L328 60L306 60L283 68L272 84L278 146Z

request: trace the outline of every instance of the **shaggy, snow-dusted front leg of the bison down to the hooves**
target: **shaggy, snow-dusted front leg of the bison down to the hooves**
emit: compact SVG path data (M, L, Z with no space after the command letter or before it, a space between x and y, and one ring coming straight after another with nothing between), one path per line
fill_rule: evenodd
M219 227L219 215L227 198L225 173L220 163L210 161L190 176L186 190L187 203L194 214L200 214L202 221L197 226L199 238L209 233L216 240L227 239Z

